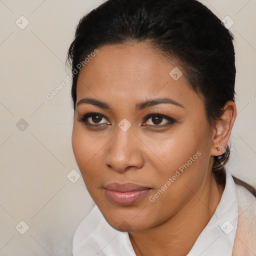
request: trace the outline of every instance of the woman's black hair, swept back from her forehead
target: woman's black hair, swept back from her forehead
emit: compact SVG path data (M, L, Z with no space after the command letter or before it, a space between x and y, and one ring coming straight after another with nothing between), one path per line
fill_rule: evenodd
M72 70L95 48L107 44L147 42L166 58L182 65L191 88L203 99L213 125L228 100L234 101L233 35L206 6L196 0L107 0L83 16L75 31L67 60ZM73 74L71 95L76 104ZM214 156L212 171L223 172L229 158L226 145Z

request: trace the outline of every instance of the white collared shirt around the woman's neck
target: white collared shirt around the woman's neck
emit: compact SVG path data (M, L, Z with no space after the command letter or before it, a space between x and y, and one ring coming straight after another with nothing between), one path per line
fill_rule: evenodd
M238 195L231 174L211 219L187 256L231 256L238 219ZM74 256L136 256L128 232L117 231L95 205L73 237Z

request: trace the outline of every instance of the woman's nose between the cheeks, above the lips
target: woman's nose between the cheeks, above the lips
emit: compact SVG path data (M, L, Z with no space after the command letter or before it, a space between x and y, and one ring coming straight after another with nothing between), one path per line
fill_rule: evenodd
M132 128L117 128L115 136L107 143L104 156L106 166L118 172L139 169L143 166L142 143Z

